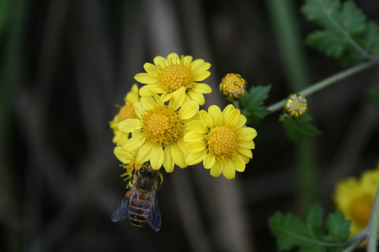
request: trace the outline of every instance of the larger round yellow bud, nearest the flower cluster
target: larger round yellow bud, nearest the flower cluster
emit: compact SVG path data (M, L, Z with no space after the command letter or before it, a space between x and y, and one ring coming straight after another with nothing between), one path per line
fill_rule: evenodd
M245 95L247 82L239 74L227 74L222 78L218 87L221 94L229 101L241 100Z

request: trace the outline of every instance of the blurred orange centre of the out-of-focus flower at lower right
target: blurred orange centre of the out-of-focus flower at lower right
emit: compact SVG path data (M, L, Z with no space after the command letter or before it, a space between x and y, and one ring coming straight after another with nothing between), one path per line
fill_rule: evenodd
M357 198L351 203L351 214L353 220L355 220L358 225L362 227L367 225L370 218L372 205L373 199L369 196Z

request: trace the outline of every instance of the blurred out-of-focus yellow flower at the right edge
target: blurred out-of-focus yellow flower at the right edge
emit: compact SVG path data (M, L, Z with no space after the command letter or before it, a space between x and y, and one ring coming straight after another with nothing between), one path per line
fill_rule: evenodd
M364 172L360 179L349 177L337 184L334 202L346 219L351 220L351 236L367 226L378 185L379 168Z

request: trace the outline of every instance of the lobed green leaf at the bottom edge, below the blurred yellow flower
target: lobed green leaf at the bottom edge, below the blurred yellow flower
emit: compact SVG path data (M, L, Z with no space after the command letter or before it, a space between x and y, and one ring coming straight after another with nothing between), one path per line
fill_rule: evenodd
M302 222L292 213L275 213L268 219L268 227L276 237L279 251L299 248L299 251L341 251L351 242L350 221L345 220L342 212L329 214L324 233L322 227L322 208L319 204L313 205Z

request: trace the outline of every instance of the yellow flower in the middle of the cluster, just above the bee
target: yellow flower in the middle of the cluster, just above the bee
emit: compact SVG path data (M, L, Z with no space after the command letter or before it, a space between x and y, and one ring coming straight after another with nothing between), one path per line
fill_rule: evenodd
M139 148L137 163L150 160L153 169L163 164L167 172L173 171L174 164L180 168L187 166L183 136L188 131L186 123L199 113L199 104L195 101L183 103L184 92L185 88L181 87L168 105L157 94L141 97L140 102L134 103L138 118L118 123L120 131L134 134L122 147L125 151Z

